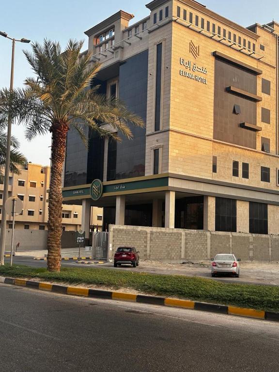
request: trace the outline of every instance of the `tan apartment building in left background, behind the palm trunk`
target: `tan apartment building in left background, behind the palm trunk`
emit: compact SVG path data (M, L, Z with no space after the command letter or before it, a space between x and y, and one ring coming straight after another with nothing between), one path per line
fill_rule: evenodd
M20 174L9 175L9 196L16 196L23 202L22 213L16 216L15 228L26 230L47 230L50 167L28 163L22 167ZM3 183L0 181L0 219L2 214ZM81 228L80 205L63 205L62 229L77 231ZM91 214L91 230L101 230L103 211L94 208ZM7 229L12 228L12 216L8 216Z

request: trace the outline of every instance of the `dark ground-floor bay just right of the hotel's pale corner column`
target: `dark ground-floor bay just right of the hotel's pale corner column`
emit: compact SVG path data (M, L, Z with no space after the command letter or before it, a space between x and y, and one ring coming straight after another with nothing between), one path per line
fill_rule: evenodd
M176 200L174 226L176 229L203 230L203 196Z

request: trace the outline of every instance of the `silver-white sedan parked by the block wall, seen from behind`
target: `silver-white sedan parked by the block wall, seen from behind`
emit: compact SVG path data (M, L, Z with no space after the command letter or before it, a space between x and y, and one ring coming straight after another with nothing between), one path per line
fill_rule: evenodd
M213 277L217 274L233 274L236 278L239 277L239 261L241 260L240 258L237 259L234 254L217 254L211 261L213 261L211 266L211 275Z

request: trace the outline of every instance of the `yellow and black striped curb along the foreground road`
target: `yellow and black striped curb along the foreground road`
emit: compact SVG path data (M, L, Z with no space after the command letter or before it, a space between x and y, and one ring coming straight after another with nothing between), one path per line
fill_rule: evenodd
M122 300L130 302L138 302L142 304L168 306L174 308L192 309L214 312L225 315L237 315L248 318L263 319L268 321L279 322L279 313L255 310L255 309L244 309L237 308L235 306L224 306L216 304L208 304L204 302L196 302L190 300L179 300L174 298L164 298L157 296L145 296L142 294L130 294L120 293L111 291L101 291L97 289L81 288L81 287L67 287L63 285L44 283L39 281L25 280L25 279L14 279L0 277L0 283L19 285L23 287L39 289L43 291L55 292L60 294L72 294L77 296L102 298L108 300Z

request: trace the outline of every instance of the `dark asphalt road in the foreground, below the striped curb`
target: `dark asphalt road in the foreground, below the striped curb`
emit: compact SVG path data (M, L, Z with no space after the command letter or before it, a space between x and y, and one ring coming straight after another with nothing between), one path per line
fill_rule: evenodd
M278 372L279 324L0 284L0 371Z

